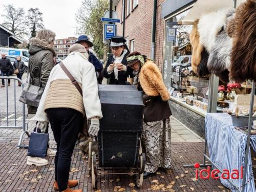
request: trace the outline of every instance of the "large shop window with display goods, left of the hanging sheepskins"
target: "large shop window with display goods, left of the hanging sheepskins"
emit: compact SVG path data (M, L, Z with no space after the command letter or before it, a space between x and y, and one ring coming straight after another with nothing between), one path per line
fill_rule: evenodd
M192 26L178 25L188 11L165 20L163 79L173 101L206 114L209 78L199 78L191 68Z

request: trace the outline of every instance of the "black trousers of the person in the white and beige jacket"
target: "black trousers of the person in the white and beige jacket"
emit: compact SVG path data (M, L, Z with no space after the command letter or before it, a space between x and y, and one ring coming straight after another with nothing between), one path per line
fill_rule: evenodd
M47 109L46 113L57 143L55 180L58 182L59 191L63 191L68 186L71 156L83 124L83 117L80 112L68 108Z

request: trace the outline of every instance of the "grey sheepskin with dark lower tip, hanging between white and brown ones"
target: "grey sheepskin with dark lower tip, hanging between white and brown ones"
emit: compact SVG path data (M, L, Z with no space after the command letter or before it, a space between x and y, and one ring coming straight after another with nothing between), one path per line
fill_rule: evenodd
M225 23L215 37L213 47L209 52L207 68L216 74L223 82L229 81L230 52L232 49L232 38L227 34L227 24L234 16L234 9L226 11Z

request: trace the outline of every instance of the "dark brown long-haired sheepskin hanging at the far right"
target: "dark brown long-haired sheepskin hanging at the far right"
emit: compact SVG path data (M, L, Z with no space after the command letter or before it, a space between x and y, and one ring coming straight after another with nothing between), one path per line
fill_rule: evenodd
M228 25L233 38L230 78L237 82L246 79L256 81L256 1L241 4Z

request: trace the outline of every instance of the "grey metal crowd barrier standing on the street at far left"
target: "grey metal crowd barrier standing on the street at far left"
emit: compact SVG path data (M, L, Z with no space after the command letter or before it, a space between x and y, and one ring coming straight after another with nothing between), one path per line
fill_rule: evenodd
M26 123L26 112L25 112L25 103L22 103L22 124L17 125L17 114L16 114L16 82L20 82L22 88L24 88L24 83L22 80L18 79L17 77L0 77L0 79L5 79L5 88L6 88L6 125L1 126L1 121L0 121L0 129L22 129L22 133L19 136L19 141L18 141L18 147L26 147L25 145L22 145L22 140L23 136L27 134L28 137L30 137L28 131L26 131L26 127L28 127L28 124ZM8 102L8 79L13 79L14 80L14 125L9 125L9 102ZM19 96L19 95L18 95ZM2 101L4 102L4 101ZM27 125L27 126L26 126Z

